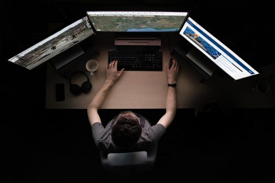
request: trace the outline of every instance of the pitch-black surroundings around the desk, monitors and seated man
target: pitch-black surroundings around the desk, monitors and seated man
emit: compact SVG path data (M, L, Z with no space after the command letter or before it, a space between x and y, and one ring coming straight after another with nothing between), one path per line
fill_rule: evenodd
M2 182L114 181L100 166L86 110L45 109L46 64L28 71L7 61L54 33L49 23L62 28L89 10L187 10L256 68L274 62L273 8L264 1L2 1L0 7ZM106 124L120 111L99 113ZM152 123L165 112L133 111ZM195 116L195 109L178 109L159 142L156 170L129 181L274 182L274 112L217 108Z

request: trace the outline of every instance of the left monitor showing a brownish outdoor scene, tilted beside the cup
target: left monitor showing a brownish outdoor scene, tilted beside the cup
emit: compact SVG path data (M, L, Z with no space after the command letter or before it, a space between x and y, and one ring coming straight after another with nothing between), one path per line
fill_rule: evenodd
M9 61L32 70L93 34L94 32L88 17L84 17L15 55Z

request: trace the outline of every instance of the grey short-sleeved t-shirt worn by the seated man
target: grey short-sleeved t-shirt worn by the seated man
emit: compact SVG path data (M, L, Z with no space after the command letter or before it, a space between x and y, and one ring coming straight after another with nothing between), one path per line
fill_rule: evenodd
M166 129L161 124L151 126L148 120L140 114L136 114L136 116L140 118L142 134L139 141L137 141L137 143L130 149L121 149L112 141L112 128L117 117L109 121L105 128L99 122L94 123L92 125L92 135L98 149L104 153L121 153L142 150L149 151L166 132Z

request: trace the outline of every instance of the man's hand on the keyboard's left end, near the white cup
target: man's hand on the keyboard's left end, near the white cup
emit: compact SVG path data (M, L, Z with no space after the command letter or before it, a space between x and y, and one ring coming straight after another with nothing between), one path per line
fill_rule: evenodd
M116 80L121 76L125 69L118 71L118 60L114 60L109 65L106 66L106 81L111 82L112 84L115 83Z

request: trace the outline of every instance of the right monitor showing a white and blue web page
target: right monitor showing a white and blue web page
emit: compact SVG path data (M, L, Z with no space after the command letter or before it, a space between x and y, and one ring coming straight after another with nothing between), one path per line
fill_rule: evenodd
M259 72L244 62L236 53L208 33L190 17L188 17L182 26L180 35L210 58L213 63L234 80L259 74Z

